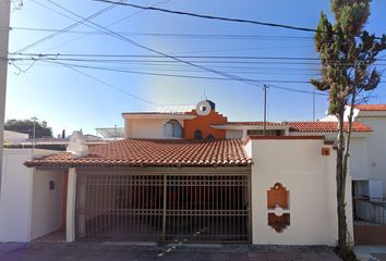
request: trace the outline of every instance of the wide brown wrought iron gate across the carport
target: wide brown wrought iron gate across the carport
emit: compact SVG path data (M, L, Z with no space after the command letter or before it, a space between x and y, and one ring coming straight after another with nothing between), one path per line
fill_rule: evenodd
M250 243L250 174L77 178L77 239Z

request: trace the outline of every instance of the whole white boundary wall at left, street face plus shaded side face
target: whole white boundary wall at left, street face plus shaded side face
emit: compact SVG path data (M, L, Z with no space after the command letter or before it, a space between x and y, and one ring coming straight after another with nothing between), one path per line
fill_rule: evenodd
M35 150L35 154L56 152ZM61 225L62 174L26 167L23 163L32 156L32 149L4 149L0 241L31 241ZM49 190L49 181L55 182L53 190Z

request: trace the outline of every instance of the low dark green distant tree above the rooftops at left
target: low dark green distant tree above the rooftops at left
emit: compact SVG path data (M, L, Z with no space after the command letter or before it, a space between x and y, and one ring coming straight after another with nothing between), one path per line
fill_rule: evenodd
M33 138L34 135L34 122L31 120L9 120L5 122L4 129L13 130L17 133L25 133ZM40 122L35 124L35 138L52 137L52 129L45 126Z

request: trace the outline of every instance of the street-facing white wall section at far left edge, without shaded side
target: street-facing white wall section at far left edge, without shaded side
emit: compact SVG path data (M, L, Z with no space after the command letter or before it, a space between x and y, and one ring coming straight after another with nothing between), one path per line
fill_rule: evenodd
M33 171L23 165L29 149L4 149L0 197L0 241L29 241Z

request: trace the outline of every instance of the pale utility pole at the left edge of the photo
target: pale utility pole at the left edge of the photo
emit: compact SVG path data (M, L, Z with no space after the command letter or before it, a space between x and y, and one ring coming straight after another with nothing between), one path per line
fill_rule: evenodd
M5 90L8 69L8 45L10 35L10 0L0 0L0 198L2 183L2 154L4 142Z

